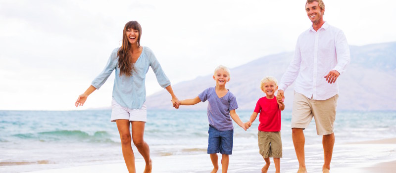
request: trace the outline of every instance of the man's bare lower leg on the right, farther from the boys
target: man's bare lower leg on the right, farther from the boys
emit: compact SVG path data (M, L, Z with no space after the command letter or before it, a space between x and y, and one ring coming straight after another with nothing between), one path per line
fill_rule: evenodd
M325 163L323 164L323 173L330 172L330 162L333 156L333 147L334 147L334 133L323 135L322 144L323 144L323 152L325 157Z

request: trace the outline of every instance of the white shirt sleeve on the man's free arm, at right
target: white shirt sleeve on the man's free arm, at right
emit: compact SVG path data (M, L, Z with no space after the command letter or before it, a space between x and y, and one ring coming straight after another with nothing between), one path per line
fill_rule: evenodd
M350 62L349 45L343 31L340 30L337 33L335 44L337 65L333 70L337 70L340 74L343 74L347 70L347 66Z

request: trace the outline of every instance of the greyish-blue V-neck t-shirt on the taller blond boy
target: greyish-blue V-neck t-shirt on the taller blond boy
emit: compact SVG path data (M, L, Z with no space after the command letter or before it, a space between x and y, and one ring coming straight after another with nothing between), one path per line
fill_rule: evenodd
M202 102L208 100L207 120L209 124L220 131L233 130L230 110L238 108L237 99L230 90L223 97L219 98L215 87L209 87L198 95Z

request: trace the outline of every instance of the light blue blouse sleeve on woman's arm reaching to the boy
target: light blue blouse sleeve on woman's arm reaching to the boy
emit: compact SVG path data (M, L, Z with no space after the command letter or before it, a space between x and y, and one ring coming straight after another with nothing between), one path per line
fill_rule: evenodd
M148 59L150 63L150 67L157 78L158 84L165 88L171 85L168 77L166 77L164 71L162 70L161 65L159 64L157 58L155 57L154 53L148 49Z

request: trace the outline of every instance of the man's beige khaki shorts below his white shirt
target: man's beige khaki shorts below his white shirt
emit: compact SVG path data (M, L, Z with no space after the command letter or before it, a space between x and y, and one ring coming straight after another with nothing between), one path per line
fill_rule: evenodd
M333 133L336 120L338 94L327 100L314 100L294 92L292 128L305 129L315 119L316 133L326 135Z

